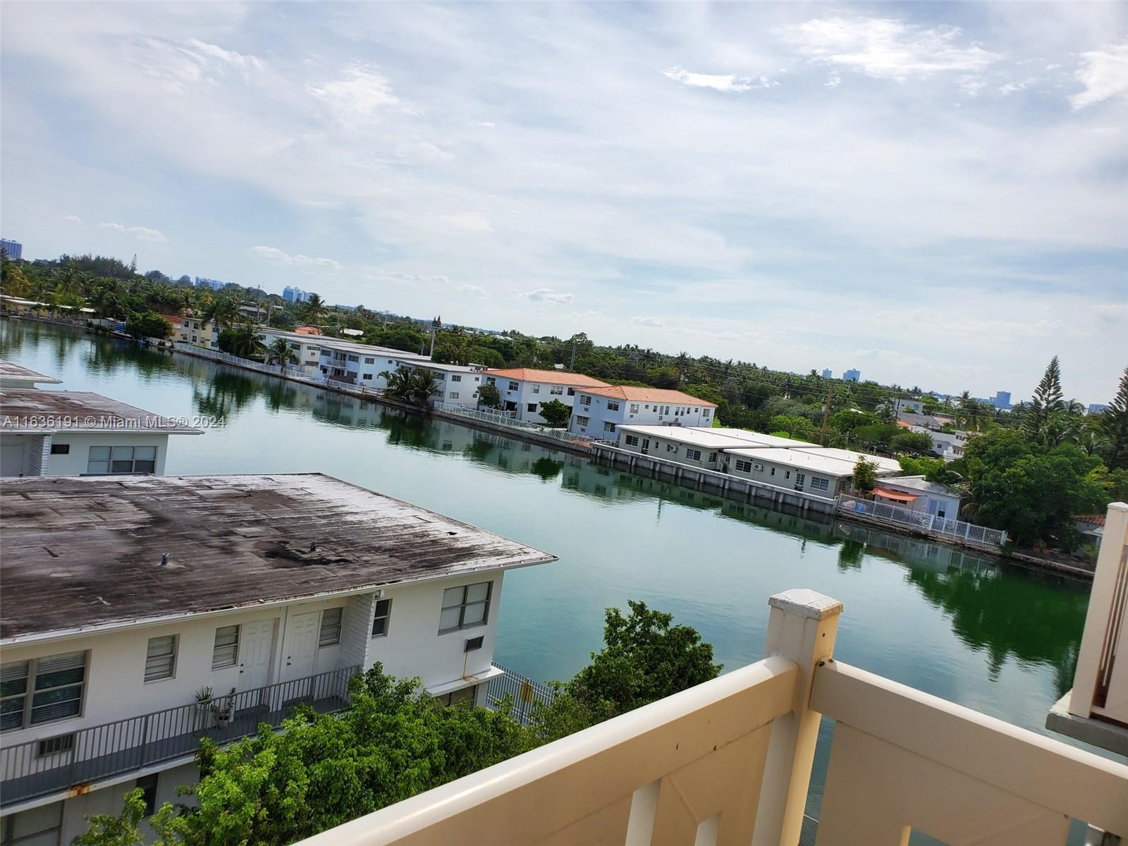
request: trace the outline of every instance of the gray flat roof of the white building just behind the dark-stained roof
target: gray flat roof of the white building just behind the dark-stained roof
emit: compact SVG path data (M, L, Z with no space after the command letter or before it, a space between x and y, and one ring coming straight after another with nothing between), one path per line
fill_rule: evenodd
M148 432L202 434L202 430L87 390L0 390L0 432Z

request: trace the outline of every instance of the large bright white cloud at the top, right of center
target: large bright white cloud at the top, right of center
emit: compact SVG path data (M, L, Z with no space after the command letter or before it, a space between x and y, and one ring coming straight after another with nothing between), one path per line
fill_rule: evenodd
M812 61L855 68L875 79L980 71L1002 58L976 43L961 45L957 26L924 27L892 18L816 18L775 32Z

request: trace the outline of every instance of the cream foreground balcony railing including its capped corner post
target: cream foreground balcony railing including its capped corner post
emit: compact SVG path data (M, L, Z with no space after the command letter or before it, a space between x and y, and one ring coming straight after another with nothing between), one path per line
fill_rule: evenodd
M818 844L1128 834L1128 767L831 659L841 605L773 597L761 661L361 817L306 846L794 846L822 714Z

